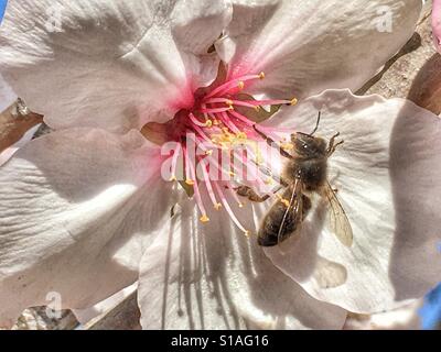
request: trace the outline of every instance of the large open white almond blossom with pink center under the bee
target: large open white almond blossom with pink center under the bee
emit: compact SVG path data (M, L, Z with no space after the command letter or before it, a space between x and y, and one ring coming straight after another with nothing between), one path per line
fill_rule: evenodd
M63 15L50 31L54 3ZM376 26L379 6L390 33ZM318 95L359 88L410 37L420 7L10 1L1 73L58 131L0 168L0 323L50 292L82 309L137 279L144 328L342 328L347 311L422 297L441 268L439 118L402 99ZM265 189L265 170L282 165L256 128L283 144L318 111L318 133L345 140L330 179L354 244L329 233L318 207L300 237L262 250L252 234L273 197L240 199L245 180L215 152L258 145L238 160ZM187 142L203 152L198 175ZM205 163L232 177L209 177Z

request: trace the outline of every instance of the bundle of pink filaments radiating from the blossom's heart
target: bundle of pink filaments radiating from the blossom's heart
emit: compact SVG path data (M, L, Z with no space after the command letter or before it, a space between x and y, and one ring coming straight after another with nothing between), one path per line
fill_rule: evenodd
M251 141L254 142L262 140L262 138L258 133L256 133L256 131L254 131L256 122L248 119L245 116L246 112L240 113L234 110L234 106L256 109L260 106L291 103L290 100L276 99L240 100L240 98L236 96L237 92L244 88L246 81L262 79L263 77L263 74L245 75L224 82L223 85L208 92L205 97L201 98L198 105L194 107L194 110L187 113L187 119L184 122L186 129L184 130L184 133L186 133L186 135L182 135L180 140L185 141L189 138L192 139L200 151L205 153L205 156L198 157L197 162L200 167L202 167L203 182L205 184L205 188L211 198L211 201L213 202L214 207L218 209L219 202L217 201L217 198L219 198L230 219L245 233L248 232L232 210L232 207L228 204L228 199L223 191L224 183L220 183L220 180L217 179L211 179L211 172L217 170L218 174L222 175L222 179L228 180L227 185L234 184L235 180L232 179L232 175L237 175L239 173L239 177L245 177L245 175L247 175L247 182L257 186L263 185L263 179L268 178L268 175L265 175L257 166L257 162L252 161L252 158L256 160L256 156L255 153L251 151L251 147L246 143L243 143L243 141L246 142L246 140L249 139L251 139ZM205 121L200 120L202 119L202 117L205 119ZM276 141L279 140L279 133L286 132L282 131L282 129L275 129L269 127L259 127L259 130L268 134L271 139L275 139ZM228 143L232 143L232 146L228 145ZM239 143L240 145L245 144L246 155L239 155L237 152L234 151L233 147L235 143ZM225 147L228 148L228 153L232 153L233 151L233 161L228 162L229 165L224 165L224 163L219 163L219 155L222 154L217 152L222 153L223 148ZM178 146L174 151L172 158L173 175L176 172L176 163L181 153L184 156L186 182L187 184L193 186L195 201L197 208L203 216L201 220L203 220L204 222L208 221L201 196L201 188L196 179L196 168L193 164L193 162L196 161L191 161L189 151L184 146L184 142L181 142L180 146ZM213 169L211 169L211 167L213 167ZM230 172L232 168L234 173ZM248 173L251 175L251 177L248 177ZM229 189L230 198L240 206L241 201L237 194L233 190L233 187L227 186L227 188ZM216 194L218 197L216 197Z

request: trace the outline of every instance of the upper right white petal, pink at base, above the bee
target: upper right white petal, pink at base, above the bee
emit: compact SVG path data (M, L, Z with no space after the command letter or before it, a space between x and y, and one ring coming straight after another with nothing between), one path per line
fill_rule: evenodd
M420 10L420 0L235 0L217 50L226 59L236 50L232 76L266 73L256 92L357 89L412 35Z

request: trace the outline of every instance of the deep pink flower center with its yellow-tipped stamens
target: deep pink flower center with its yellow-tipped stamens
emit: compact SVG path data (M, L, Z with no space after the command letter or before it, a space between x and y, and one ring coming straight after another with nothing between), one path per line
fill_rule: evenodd
M192 189L202 222L209 221L202 197L202 191L207 191L214 209L224 208L247 235L249 231L237 219L228 199L243 207L235 188L244 180L257 189L272 183L272 178L263 172L267 161L261 157L261 146L268 145L256 131L255 118L259 113L271 114L263 107L297 103L295 98L255 100L243 92L249 84L263 78L263 73L246 75L198 89L193 108L180 110L165 127L166 140L174 143L170 180L179 180L187 190ZM263 125L258 129L281 143L289 133Z

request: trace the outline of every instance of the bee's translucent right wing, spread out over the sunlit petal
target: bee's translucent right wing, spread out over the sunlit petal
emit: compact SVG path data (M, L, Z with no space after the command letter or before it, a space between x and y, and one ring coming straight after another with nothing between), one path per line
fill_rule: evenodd
M353 232L351 222L347 219L346 212L340 204L334 190L330 183L322 189L323 197L327 201L327 219L331 230L335 233L337 239L346 246L351 246L353 242Z

